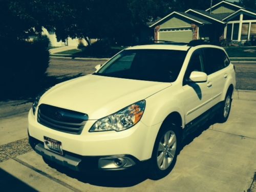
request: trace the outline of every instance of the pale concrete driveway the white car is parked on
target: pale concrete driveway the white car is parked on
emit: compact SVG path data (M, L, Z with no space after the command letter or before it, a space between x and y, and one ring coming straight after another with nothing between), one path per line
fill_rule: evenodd
M47 191L253 191L256 172L256 92L235 92L226 123L208 124L187 138L172 172L153 181L143 173L74 174L50 167L27 144L31 103L0 103L0 186ZM9 111L9 112L8 112ZM26 111L23 113L23 111ZM56 169L57 168L57 169ZM252 186L251 186L252 185Z

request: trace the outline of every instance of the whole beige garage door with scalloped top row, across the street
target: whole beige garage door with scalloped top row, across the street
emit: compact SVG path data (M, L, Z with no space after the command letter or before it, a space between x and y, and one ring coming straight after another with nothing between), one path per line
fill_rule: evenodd
M158 39L175 42L189 42L190 40L193 40L193 32L191 28L160 29Z

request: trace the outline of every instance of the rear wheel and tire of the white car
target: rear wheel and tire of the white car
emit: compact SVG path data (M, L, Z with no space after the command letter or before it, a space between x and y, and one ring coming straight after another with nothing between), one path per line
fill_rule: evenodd
M220 112L217 114L217 120L220 123L224 123L227 121L232 102L232 92L228 91L225 97L225 100L221 102Z

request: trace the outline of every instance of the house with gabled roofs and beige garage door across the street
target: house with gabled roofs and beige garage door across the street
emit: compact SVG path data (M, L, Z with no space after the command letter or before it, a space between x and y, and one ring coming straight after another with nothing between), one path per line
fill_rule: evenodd
M245 42L256 38L256 11L222 1L206 10L174 11L150 26L155 40Z

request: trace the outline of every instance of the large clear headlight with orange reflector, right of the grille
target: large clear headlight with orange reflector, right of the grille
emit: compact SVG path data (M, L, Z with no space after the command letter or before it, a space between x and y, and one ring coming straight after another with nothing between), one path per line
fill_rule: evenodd
M123 131L135 125L142 117L145 100L126 106L115 114L99 119L91 127L90 132Z

